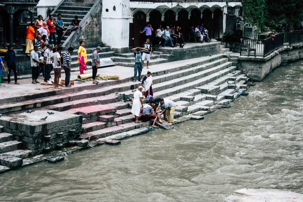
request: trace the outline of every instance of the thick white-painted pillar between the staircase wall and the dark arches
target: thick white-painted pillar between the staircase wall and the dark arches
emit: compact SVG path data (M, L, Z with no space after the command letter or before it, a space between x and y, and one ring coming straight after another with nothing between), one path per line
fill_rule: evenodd
M128 53L129 23L133 18L129 0L104 1L102 9L102 42L118 53Z

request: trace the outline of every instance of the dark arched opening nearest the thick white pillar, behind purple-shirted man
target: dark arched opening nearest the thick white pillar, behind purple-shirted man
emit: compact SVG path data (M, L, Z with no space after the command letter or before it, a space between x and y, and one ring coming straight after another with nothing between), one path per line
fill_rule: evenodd
M135 13L133 23L129 25L129 47L142 46L144 42L144 33L140 34L140 31L146 25L146 15L145 13L139 11Z

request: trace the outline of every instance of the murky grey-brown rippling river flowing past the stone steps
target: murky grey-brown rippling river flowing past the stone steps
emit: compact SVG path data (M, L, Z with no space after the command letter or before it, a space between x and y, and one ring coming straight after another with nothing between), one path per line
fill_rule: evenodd
M303 193L303 61L248 96L177 124L0 175L1 201L224 201L241 188Z

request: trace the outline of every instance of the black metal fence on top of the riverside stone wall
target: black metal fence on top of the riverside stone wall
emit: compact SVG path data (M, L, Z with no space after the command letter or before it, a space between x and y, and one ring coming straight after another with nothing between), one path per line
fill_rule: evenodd
M282 48L303 44L303 30L283 32L266 39L241 39L240 56L266 57Z

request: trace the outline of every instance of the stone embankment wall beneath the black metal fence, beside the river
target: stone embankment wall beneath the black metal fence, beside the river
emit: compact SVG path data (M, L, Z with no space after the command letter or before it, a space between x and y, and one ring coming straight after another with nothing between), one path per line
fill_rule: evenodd
M303 58L303 45L284 47L265 58L241 56L238 58L238 69L249 78L262 81L273 69L288 62Z

